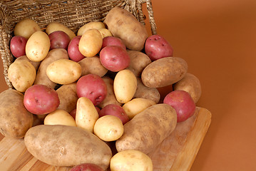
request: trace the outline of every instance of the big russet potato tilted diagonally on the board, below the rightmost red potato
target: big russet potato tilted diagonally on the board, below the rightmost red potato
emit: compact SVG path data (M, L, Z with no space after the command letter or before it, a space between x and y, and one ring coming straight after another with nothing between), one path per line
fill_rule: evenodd
M173 132L176 124L177 114L173 107L163 103L152 105L124 125L116 149L118 152L140 150L148 154Z

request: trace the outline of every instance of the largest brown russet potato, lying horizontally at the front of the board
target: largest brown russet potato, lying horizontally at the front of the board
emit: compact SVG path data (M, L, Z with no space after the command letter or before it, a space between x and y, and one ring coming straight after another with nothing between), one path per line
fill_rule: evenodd
M89 131L68 125L38 125L26 133L29 152L48 165L75 166L93 163L106 170L112 152Z

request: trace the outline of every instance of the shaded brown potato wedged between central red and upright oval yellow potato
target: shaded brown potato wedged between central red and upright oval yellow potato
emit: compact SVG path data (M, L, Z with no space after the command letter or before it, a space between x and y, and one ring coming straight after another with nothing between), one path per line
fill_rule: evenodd
M114 82L113 79L109 78L108 76L103 76L102 79L106 83L108 93L106 95L106 98L100 104L98 104L98 106L100 108L104 108L106 105L109 105L109 104L115 104L115 105L121 106L121 103L119 103L118 100L116 100L116 95L113 89L113 82Z

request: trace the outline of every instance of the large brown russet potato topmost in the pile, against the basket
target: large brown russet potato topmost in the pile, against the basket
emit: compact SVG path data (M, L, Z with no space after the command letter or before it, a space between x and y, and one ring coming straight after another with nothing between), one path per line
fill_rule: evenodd
M120 7L114 7L108 12L104 23L113 36L121 38L130 50L141 51L144 48L148 33L133 14Z

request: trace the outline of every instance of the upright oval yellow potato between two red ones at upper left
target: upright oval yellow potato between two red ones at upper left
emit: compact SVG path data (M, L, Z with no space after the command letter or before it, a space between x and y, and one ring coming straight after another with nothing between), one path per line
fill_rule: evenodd
M51 41L43 31L36 31L26 42L26 56L31 61L42 61L50 49Z

